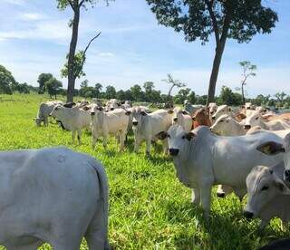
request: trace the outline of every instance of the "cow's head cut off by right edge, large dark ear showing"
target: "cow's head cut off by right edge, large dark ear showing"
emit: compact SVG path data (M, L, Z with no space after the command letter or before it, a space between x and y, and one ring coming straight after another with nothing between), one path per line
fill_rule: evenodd
M290 133L285 136L283 144L270 140L259 145L256 149L266 155L282 153L285 164L284 180L290 182Z

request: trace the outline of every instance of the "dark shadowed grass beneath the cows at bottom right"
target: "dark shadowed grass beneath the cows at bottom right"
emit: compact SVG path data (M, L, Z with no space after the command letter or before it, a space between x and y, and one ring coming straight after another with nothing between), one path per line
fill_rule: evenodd
M190 202L181 206L176 201L167 202L165 209L169 224L193 227L180 230L174 237L177 249L253 249L253 241L259 247L289 234L289 231L277 232L271 226L261 232L256 222L250 224L243 217L242 211L231 214L211 211L206 219L202 209Z

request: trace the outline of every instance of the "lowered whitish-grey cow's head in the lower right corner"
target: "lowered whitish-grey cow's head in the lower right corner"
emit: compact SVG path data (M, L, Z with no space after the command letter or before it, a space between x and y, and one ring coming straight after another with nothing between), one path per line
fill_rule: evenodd
M247 176L247 206L244 216L258 217L264 207L277 195L289 195L290 189L284 181L276 178L272 168L256 166Z

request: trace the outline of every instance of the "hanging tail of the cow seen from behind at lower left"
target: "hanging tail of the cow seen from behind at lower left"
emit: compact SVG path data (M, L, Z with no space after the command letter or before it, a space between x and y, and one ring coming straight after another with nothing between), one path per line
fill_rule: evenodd
M109 217L109 188L108 188L108 178L102 164L92 159L92 167L95 169L98 182L100 187L100 199L103 210L103 225L104 225L104 236L105 236L105 249L110 249L109 240L108 240L108 217Z

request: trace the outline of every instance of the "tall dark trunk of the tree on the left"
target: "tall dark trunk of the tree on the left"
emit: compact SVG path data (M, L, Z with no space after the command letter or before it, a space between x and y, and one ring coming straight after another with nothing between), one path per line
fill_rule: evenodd
M73 70L73 61L74 55L76 50L76 45L78 42L78 33L79 33L79 23L80 23L80 7L75 7L73 10L73 34L72 40L70 44L70 53L68 59L68 85L67 85L67 96L66 101L70 102L73 101L73 91L74 91L74 84L75 84L75 75Z

